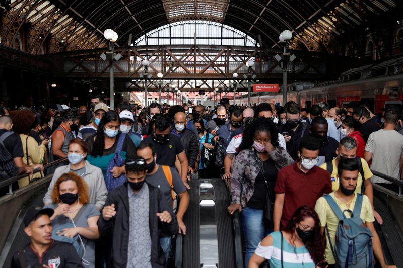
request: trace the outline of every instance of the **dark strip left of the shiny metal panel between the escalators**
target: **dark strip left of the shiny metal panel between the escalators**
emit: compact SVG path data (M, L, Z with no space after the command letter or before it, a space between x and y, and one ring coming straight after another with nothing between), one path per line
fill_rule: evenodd
M200 188L199 180L189 181L189 207L184 216L186 235L183 236L183 268L200 267Z

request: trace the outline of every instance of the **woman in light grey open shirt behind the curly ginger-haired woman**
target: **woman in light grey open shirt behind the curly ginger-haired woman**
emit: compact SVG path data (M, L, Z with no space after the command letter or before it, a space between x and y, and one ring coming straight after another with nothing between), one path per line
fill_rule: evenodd
M68 159L69 164L58 167L52 177L49 188L43 203L52 203L51 193L58 178L68 172L74 172L84 179L88 185L90 204L94 204L101 210L105 204L108 192L103 180L102 171L99 167L91 165L87 160L88 147L81 139L73 139L69 143Z

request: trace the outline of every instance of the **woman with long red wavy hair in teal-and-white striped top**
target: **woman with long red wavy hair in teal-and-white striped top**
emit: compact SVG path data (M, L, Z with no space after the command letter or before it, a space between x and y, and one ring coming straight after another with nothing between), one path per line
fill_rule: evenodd
M319 216L313 208L303 206L295 211L284 231L273 232L259 243L249 268L259 267L265 259L271 268L325 267L324 248Z

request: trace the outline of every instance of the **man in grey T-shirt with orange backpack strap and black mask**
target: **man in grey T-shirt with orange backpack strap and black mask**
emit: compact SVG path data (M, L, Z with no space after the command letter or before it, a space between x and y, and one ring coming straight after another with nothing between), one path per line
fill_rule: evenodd
M180 179L179 173L175 168L159 165L155 163L157 154L150 143L142 143L137 148L137 155L146 161L146 183L160 189L161 194L169 206L174 205L176 193L179 197L179 204L176 217L179 224L179 233L186 234L186 226L183 223L183 215L189 206L189 194ZM168 260L171 251L172 236L161 236L160 244L165 253L165 259Z

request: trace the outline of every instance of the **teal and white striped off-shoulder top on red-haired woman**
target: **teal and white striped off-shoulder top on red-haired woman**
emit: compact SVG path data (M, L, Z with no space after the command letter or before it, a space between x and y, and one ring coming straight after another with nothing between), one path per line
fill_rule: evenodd
M255 254L268 259L270 268L281 268L281 234L273 232L273 246L257 246ZM283 238L283 266L287 268L314 268L308 249L305 246L294 247Z

